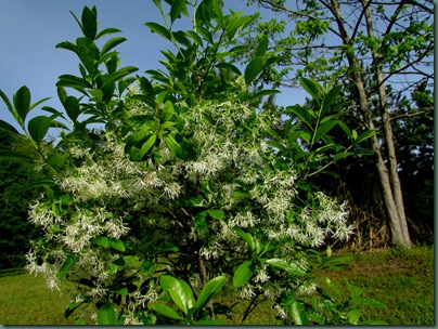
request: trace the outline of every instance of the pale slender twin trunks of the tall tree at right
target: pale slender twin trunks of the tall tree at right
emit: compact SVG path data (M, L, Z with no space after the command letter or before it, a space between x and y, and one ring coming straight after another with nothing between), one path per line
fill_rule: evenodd
M365 6L365 4L364 4ZM336 18L336 23L338 25L338 29L340 31L340 36L343 38L343 42L346 45L346 55L348 58L348 64L349 64L349 71L348 71L348 77L351 79L351 81L355 83L356 89L358 91L358 100L357 103L359 105L359 109L362 113L363 119L366 122L368 129L372 131L376 131L374 121L373 121L373 116L371 114L370 109L370 104L368 102L366 97L366 91L365 91L365 83L363 81L361 71L360 71L360 65L358 57L356 56L355 52L352 49L350 49L351 45L351 40L347 34L347 29L345 28L344 25L344 19L342 17L342 12L339 8L339 2L337 0L332 0L331 5L327 6L328 10L332 11ZM366 9L364 9L366 10ZM381 70L382 74L382 70ZM383 81L383 78L382 78ZM383 83L382 83L383 84ZM381 97L381 101L384 101L385 105L386 103L386 92L382 94L384 98ZM390 129L390 121L389 121L389 115L386 110L383 109L383 120L387 121L384 127L385 131L385 142L386 145L389 145L389 166L390 172L388 171L385 160L382 154L382 147L378 142L378 139L376 135L372 137L371 144L372 148L375 153L376 157L376 169L379 177L379 182L382 185L382 190L384 195L384 200L385 200L385 207L386 211L388 214L389 219L389 228L391 232L391 241L394 245L402 246L405 248L411 247L411 240L409 238L409 232L408 232L408 226L407 226L407 220L404 215L404 207L403 207L403 200L401 197L401 186L400 186L400 181L398 179L398 173L397 173L397 158L395 155L395 147L394 147L394 140L392 140L392 131ZM389 137L389 139L387 139ZM395 167L394 167L395 166ZM400 197L398 197L400 196ZM400 216L400 213L402 215Z

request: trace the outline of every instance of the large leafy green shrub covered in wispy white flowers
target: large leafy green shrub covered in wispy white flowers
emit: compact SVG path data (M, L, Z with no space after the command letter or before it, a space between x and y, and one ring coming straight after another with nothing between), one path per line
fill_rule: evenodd
M7 155L34 160L46 176L29 211L44 235L27 268L53 289L69 289L66 316L91 303L100 325L214 324L211 300L227 281L252 300L247 313L268 299L285 324L359 323L361 306L381 304L353 294L336 305L312 282L313 271L345 261L332 260L330 248L328 259L313 249L326 238L347 239L352 228L345 202L306 181L372 133L326 116L339 94L331 83L301 79L317 106L289 108L302 126L256 107L276 93L249 91L276 61L268 41L243 73L228 61L246 51L237 40L256 16L224 14L215 0L193 4L193 14L186 1L166 2L168 10L154 0L165 25L145 24L173 44L163 51L166 70L131 77L137 68L120 68L114 50L125 38L102 42L119 30L98 30L96 9L86 6L75 16L83 36L57 44L79 60L80 76L57 82L64 111L46 106L47 116L27 120L41 102L30 105L25 87L12 102L0 93L36 149ZM173 30L179 18L192 29ZM351 145L327 135L335 126ZM51 127L61 129L59 141L46 139ZM313 292L312 303L300 300Z

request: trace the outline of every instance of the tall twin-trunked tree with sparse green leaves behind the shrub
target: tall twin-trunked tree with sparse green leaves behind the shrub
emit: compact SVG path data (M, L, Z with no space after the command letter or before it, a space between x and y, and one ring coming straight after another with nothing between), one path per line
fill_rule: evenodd
M348 111L361 119L363 129L376 132L370 141L391 241L409 248L411 238L398 173L388 88L392 87L392 95L403 95L420 83L433 83L433 1L248 2L284 18L259 22L258 34L253 36L258 39L269 36L270 47L282 58L280 66L265 71L266 82L296 87L296 79L306 75L319 80L335 77L344 81L344 92L350 102Z

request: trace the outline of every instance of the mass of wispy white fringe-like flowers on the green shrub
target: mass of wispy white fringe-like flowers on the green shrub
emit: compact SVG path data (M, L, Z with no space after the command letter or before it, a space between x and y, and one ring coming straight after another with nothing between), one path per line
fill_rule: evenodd
M180 119L184 120L181 133L190 136L189 143L195 152L191 160L176 158L162 141L152 150L160 159L158 162L132 162L124 152L124 143L111 132L102 134L99 149L90 152L79 145L68 148L69 166L56 174L55 182L70 197L69 201L36 200L29 211L31 222L41 225L47 241L56 247L36 246L27 255L27 268L44 273L50 286L57 288L59 271L67 254L75 253L78 261L72 277L93 278L95 288L87 293L102 297L116 273L108 268L120 254L113 249L96 248L93 239L129 238L127 218L136 212L142 214L144 227L157 232L162 242L198 242L199 235L193 226L190 232L176 235L176 227L182 227L178 223L181 212L176 212L181 207L176 201L189 196L185 184L199 188L205 182L209 182L211 190L204 206L219 207L226 213L220 221L208 221L210 238L197 250L207 261L230 259L247 251L247 244L235 234L235 227L256 229L268 240L289 239L291 244L282 247L282 255L301 262L302 268L306 263L294 258L293 242L314 247L327 236L345 239L351 234L345 205L323 194L315 194L315 208L298 209L294 203L297 173L292 167L276 169L269 162L272 149L265 136L269 128L278 124L278 119L232 102L203 104L189 109ZM41 250L44 255L39 265ZM253 280L256 286L243 287L242 297L250 298L259 289L274 299L284 291L278 282L270 281L268 269L268 266L257 269ZM136 307L144 307L157 294L136 293L131 298L136 302L132 312L126 315L126 323L138 324Z

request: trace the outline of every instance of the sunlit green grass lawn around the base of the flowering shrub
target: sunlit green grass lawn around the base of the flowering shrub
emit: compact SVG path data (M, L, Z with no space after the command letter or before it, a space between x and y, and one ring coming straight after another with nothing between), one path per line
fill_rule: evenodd
M346 255L346 252L337 254ZM344 281L347 278L363 289L364 298L386 304L386 308L364 310L364 319L379 319L389 325L434 325L433 247L381 250L352 256L353 261L342 271L321 273L318 278L321 286L328 276L342 291L347 291ZM0 272L0 289L1 325L72 325L72 320L64 318L67 298L50 291L41 276L22 271ZM247 302L233 297L222 297L219 301L229 305L240 302L233 307L233 319L223 319L230 325L241 324ZM280 325L271 306L260 304L243 324Z

